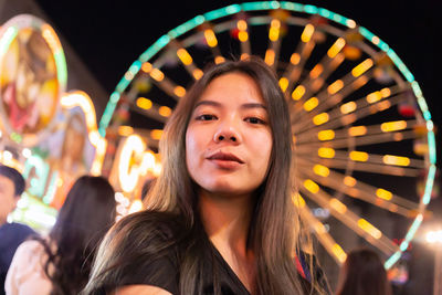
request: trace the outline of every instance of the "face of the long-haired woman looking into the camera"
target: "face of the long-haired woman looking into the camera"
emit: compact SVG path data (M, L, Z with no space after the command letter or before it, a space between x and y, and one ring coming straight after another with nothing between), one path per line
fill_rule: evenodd
M272 151L266 105L243 73L215 77L198 99L186 133L186 162L199 187L250 194L264 180Z

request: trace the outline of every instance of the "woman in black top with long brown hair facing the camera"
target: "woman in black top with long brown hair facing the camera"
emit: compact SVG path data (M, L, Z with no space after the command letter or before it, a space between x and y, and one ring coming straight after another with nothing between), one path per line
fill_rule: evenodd
M206 71L160 151L148 210L113 226L83 294L325 293L315 268L297 267L311 260L291 200L290 115L265 63Z

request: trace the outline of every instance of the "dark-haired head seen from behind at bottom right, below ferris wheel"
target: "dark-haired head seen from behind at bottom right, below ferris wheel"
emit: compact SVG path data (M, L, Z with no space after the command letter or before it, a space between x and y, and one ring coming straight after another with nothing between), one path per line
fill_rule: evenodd
M392 295L378 253L365 247L350 251L339 274L336 295Z

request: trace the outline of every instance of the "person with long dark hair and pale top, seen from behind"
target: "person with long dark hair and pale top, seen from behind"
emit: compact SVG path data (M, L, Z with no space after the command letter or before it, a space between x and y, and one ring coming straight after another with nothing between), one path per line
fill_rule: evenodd
M83 176L67 193L48 238L23 242L4 284L8 295L78 294L98 242L115 221L115 193L102 177Z

